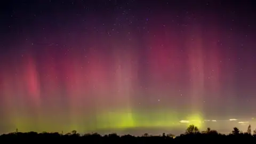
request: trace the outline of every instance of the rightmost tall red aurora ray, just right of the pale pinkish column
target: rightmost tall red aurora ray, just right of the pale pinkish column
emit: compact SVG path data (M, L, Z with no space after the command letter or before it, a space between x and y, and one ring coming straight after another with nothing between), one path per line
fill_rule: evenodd
M208 109L206 109L208 115L211 114L211 117L217 116L222 109L216 109L214 103L215 102L220 102L221 101L221 70L223 69L221 66L221 56L223 55L218 47L218 38L220 37L219 34L219 28L218 28L218 23L215 23L216 27L211 29L207 27L208 33L211 33L211 35L206 35L204 34L205 41L204 45L209 47L209 50L205 52L205 60L207 61L204 63L205 67L205 90L207 93L210 95L210 99L206 99L208 101L213 101L213 102L205 102L207 103ZM210 83L207 83L210 82ZM207 97L207 95L205 95Z

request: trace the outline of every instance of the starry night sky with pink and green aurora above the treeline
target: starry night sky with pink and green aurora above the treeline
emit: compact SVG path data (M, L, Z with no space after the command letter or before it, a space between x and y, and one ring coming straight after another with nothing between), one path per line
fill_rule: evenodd
M0 5L0 133L185 131L181 120L231 132L256 115L253 1Z

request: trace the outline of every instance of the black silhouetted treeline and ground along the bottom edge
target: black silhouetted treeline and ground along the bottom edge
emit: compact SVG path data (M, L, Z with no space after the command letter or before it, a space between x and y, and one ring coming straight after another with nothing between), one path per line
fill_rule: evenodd
M36 133L16 132L3 134L0 136L0 143L256 143L256 131L251 134L251 126L246 133L240 132L236 127L230 134L221 134L208 128L199 132L196 126L190 125L184 134L178 136L165 134L158 136L147 133L140 137L132 135L119 136L115 133L100 135L98 133L80 135L76 131L67 134L60 133Z

